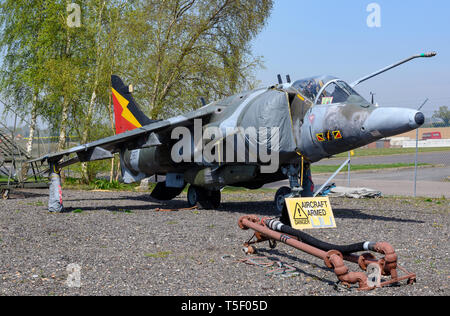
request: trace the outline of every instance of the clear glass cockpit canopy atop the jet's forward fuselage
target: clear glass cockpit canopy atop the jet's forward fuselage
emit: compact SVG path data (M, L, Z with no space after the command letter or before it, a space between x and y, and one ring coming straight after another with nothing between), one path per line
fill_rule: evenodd
M315 104L369 104L345 81L332 76L306 78L294 82L292 86Z

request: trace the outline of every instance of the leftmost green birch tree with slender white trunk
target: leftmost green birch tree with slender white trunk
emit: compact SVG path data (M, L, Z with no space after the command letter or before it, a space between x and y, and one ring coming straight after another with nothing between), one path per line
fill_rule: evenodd
M40 93L45 70L39 28L45 16L39 14L44 1L4 0L0 3L0 47L4 53L0 91L14 105L14 111L31 115L27 153L31 155L37 117L41 113ZM8 110L5 109L5 110Z

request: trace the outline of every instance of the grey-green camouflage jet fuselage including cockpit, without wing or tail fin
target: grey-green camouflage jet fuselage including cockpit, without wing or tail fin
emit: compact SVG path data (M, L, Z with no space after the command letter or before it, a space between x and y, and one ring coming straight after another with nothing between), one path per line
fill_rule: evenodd
M345 82L333 77L304 79L289 85L278 85L233 95L187 114L203 116L202 130L216 128L235 130L231 136L217 138L202 135L202 148L211 142L222 144L221 158L216 162L196 160L195 136L192 136L192 159L181 163L173 161L172 131L152 133L147 148L122 152L122 170L125 182L139 181L152 175L166 175L167 187L181 187L185 183L217 190L224 186L259 188L267 183L287 178L287 166L317 162L323 158L367 145L383 137L403 133L423 124L423 114L404 108L381 108L367 102ZM176 124L179 118L168 120ZM193 126L188 126L195 134ZM265 152L278 156L274 172L261 172L267 164L260 157L261 150L252 151L252 143L245 131L254 128L277 128L279 146L269 138L260 141ZM258 135L259 136L259 135ZM272 135L273 136L273 135ZM245 148L234 148L234 160L226 160L229 145L244 139ZM263 147L264 147L263 146ZM217 147L219 148L219 147ZM256 153L257 157L251 157ZM197 153L198 155L198 153Z

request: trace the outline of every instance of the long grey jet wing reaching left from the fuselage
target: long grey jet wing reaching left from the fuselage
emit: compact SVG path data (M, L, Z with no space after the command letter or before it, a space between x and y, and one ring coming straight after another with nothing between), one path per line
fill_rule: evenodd
M66 151L48 154L28 162L47 161L58 164L62 168L77 162L110 159L113 158L114 153L119 152L121 149L132 150L160 145L157 137L155 138L156 133L170 132L170 130L178 126L193 125L195 119L208 117L217 111L221 111L221 107L211 104L186 115L157 121L119 135L76 146ZM76 154L75 158L60 163L61 159L73 154Z

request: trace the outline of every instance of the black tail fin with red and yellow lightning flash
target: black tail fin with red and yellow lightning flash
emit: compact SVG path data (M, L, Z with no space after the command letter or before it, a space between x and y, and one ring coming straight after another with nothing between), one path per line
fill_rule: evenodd
M118 76L111 76L116 134L149 125L155 121L149 119L134 101L129 88Z

